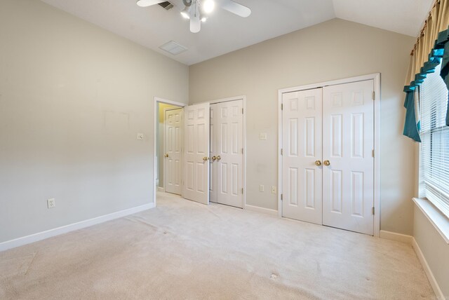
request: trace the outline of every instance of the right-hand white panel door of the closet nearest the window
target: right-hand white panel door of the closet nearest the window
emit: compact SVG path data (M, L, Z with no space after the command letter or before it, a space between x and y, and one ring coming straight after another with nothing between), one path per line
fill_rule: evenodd
M323 224L373 235L373 80L323 88Z

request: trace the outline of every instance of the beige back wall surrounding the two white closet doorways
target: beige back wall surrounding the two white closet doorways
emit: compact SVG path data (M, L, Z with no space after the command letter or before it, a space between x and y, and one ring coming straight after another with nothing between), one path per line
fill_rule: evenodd
M381 227L412 234L415 150L402 136L402 88L414 41L334 19L189 67L190 103L247 97L247 204L277 209L271 189L258 188L277 184L279 89L380 72Z

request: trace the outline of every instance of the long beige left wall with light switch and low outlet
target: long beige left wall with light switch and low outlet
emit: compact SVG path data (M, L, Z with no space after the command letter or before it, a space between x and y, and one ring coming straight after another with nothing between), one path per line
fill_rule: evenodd
M1 0L0 242L151 203L154 96L187 103L187 66Z

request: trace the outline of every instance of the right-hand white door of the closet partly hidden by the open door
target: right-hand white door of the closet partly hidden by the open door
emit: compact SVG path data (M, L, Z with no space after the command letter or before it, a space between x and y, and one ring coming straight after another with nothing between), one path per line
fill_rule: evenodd
M218 103L217 202L243 208L243 100Z

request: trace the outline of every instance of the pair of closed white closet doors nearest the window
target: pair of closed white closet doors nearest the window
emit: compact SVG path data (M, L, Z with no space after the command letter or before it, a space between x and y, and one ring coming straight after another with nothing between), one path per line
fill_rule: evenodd
M373 80L283 94L283 217L373 235Z

